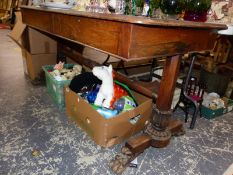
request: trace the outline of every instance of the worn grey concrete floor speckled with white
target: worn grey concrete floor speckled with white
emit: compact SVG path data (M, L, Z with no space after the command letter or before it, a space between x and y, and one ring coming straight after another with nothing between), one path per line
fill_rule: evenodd
M109 161L122 145L97 146L58 110L45 86L33 86L8 32L0 29L0 175L113 174ZM233 163L233 113L198 118L194 130L185 128L184 136L166 148L147 149L138 157L138 168L123 174L223 174ZM39 156L32 156L34 149Z

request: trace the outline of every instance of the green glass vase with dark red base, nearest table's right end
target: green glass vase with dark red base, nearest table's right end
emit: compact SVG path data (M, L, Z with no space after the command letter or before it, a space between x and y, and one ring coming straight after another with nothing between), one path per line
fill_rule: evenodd
M211 0L186 0L184 20L205 22L211 3Z

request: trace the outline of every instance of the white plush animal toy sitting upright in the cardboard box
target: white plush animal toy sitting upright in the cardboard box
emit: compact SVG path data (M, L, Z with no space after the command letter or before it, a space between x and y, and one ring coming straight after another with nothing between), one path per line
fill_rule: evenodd
M92 72L98 79L102 80L102 84L94 104L109 108L114 93L112 65L109 65L109 67L94 67Z

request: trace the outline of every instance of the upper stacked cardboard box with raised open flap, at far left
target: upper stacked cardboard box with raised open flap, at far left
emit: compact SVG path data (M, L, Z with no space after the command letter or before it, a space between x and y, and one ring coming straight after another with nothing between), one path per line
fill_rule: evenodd
M16 24L9 36L31 54L57 53L57 42L22 23L21 12L16 12Z

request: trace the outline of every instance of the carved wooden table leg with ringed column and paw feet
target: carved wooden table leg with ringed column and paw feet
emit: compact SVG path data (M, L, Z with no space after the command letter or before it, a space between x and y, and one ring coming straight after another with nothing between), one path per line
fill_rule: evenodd
M179 57L177 55L166 59L152 121L145 128L145 134L130 139L121 154L112 160L110 166L115 173L122 173L128 164L148 147L165 147L171 136L182 133L183 123L171 119L172 98L181 62ZM124 149L128 150L128 155L125 155Z

